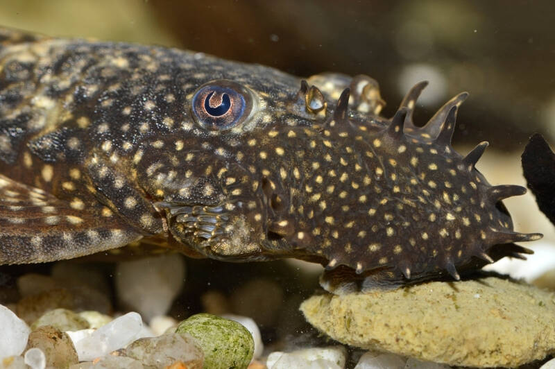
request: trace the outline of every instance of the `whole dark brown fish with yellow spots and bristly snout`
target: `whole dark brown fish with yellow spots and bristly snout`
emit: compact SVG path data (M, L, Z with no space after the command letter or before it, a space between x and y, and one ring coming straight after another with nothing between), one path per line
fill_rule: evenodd
M386 119L366 76L307 83L202 53L2 29L0 264L163 239L197 257L319 262L323 286L344 291L459 279L528 252L512 242L540 234L513 232L500 202L522 187L490 187L475 169L487 143L466 157L450 146L466 94L413 125L425 85Z

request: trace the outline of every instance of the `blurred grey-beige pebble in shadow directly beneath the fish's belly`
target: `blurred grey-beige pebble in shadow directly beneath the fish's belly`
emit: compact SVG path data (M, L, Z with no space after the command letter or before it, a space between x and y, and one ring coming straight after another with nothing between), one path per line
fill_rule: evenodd
M133 261L117 266L118 298L136 310L146 322L166 314L185 280L185 261L181 255L168 254Z

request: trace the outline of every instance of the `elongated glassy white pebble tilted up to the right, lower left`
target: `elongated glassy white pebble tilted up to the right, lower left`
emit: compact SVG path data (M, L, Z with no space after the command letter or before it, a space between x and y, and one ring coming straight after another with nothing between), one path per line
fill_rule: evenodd
M67 332L67 334L74 343L79 361L90 361L135 341L139 338L142 327L141 316L131 312L94 331L83 329L86 332Z

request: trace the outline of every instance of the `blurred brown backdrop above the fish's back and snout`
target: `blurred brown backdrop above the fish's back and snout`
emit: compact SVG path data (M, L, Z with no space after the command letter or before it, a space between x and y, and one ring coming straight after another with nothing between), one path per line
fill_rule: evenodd
M522 151L555 137L554 1L0 0L0 24L49 35L163 44L298 76L368 74L395 112L429 79L416 119L470 92L455 144Z

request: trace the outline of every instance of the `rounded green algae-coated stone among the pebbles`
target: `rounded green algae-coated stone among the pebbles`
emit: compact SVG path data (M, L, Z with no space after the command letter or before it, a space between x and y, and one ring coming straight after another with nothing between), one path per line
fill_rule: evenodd
M253 336L241 324L211 314L196 314L179 323L177 333L188 333L204 352L204 369L244 369L253 359Z

